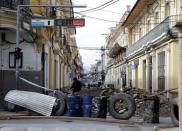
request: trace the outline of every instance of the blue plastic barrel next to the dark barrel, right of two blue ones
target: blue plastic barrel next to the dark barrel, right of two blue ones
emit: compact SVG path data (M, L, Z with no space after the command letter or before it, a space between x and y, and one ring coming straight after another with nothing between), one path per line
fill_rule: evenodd
M82 116L84 117L91 116L92 98L93 96L82 96Z

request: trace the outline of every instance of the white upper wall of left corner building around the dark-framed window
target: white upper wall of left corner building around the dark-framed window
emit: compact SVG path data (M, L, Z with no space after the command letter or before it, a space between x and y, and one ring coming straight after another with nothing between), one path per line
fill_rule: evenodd
M6 40L15 43L15 31L0 31L1 34L6 34ZM9 52L15 51L15 44L7 44L6 42L0 42L0 65L2 70L15 70L9 68ZM23 67L20 70L26 71L41 71L41 53L36 51L35 44L23 42L20 44L20 48L23 52Z

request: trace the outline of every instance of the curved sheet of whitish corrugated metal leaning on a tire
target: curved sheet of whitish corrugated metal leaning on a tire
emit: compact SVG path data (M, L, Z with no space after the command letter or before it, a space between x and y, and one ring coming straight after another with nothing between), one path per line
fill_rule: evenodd
M4 100L39 114L50 116L56 98L35 92L11 90L6 94Z

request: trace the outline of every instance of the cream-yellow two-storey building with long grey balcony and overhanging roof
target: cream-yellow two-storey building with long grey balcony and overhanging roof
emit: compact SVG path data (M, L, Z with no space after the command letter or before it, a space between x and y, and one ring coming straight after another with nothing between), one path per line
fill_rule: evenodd
M154 92L178 87L176 22L179 0L137 0L122 24L128 30L127 83Z

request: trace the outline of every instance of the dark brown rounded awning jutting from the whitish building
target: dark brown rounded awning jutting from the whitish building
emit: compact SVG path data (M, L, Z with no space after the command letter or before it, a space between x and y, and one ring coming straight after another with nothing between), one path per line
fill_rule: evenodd
M116 57L122 50L126 51L126 48L121 47L118 43L114 44L114 46L110 49L108 56L111 58Z

